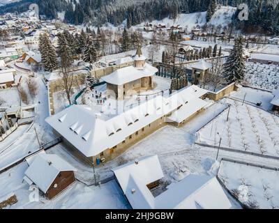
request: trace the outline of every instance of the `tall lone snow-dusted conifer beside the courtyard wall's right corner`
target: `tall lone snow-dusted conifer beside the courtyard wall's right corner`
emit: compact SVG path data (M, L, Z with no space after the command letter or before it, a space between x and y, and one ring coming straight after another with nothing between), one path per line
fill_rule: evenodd
M224 77L228 83L241 82L245 77L245 58L243 50L243 38L235 40L234 48L231 50L224 64Z

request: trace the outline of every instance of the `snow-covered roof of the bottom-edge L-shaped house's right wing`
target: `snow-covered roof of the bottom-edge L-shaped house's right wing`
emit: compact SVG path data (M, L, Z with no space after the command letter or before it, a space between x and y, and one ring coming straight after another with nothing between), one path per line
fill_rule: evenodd
M223 187L215 176L189 175L156 197L158 209L229 209Z

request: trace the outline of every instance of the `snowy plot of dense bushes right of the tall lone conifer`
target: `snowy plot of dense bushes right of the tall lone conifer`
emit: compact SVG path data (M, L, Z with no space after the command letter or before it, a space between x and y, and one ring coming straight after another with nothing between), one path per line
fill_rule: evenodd
M243 83L259 89L273 91L279 86L279 66L246 63L246 78Z

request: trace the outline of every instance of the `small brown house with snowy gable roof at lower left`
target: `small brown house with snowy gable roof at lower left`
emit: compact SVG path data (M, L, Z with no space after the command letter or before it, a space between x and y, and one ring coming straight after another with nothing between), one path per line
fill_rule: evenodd
M75 182L76 169L58 155L39 153L27 157L27 163L24 181L37 185L47 199L54 199Z

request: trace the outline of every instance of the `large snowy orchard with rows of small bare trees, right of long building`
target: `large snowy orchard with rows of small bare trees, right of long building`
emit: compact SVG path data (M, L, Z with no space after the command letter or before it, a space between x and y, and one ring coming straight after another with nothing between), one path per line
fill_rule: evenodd
M279 117L242 102L223 99L231 104L228 110L198 132L198 141L262 155L279 156Z

